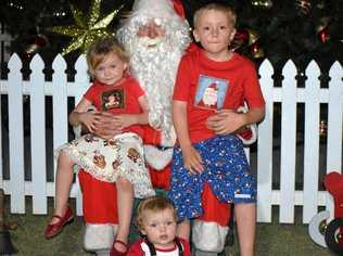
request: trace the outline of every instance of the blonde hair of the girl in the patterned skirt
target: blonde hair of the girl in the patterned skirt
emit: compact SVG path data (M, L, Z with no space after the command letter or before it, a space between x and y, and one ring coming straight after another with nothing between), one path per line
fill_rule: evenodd
M120 61L129 63L129 55L114 37L100 38L87 50L87 64L91 76L93 76L93 71L109 53L115 53Z

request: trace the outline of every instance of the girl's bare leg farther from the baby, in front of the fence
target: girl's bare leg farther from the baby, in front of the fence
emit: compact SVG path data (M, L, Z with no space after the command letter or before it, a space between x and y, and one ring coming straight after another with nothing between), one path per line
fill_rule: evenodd
M74 163L71 161L71 158L61 152L58 158L58 170L55 180L55 208L53 215L62 217L65 214L73 183L73 166ZM59 218L53 217L50 220L50 223L56 223L59 221Z

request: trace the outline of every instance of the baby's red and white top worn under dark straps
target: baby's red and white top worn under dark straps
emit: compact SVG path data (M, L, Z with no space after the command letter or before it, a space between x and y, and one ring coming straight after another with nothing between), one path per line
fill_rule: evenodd
M183 239L179 239L179 241L181 242L183 247L183 256L191 256L189 243ZM158 247L155 247L155 249L156 256L179 256L179 249L176 243L175 246L170 249L162 249ZM151 256L151 253L144 240L139 240L131 245L129 252L127 253L127 256Z

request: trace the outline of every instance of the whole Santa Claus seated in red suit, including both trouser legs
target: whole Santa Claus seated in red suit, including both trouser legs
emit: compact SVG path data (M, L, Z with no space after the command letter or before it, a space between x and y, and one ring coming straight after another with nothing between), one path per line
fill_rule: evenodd
M132 75L144 89L150 106L145 129L145 158L156 188L168 189L169 163L175 144L172 97L178 64L189 47L190 27L179 0L136 0L132 13L117 30L118 40L130 53ZM112 119L112 118L111 118ZM115 133L111 124L99 132ZM98 255L109 254L116 232L115 185L80 171L86 222L85 247ZM193 226L195 255L217 255L223 251L228 231L230 207L203 193L204 216Z

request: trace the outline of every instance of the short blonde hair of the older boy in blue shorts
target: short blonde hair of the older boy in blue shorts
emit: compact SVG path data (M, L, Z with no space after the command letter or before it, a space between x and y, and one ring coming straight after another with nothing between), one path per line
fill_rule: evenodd
M233 11L233 9L227 4L217 3L217 2L208 3L208 4L205 4L204 7L201 7L200 9L198 9L193 15L193 26L195 28L198 27L199 18L203 12L212 11L212 10L218 11L218 12L224 12L228 16L228 21L229 21L229 23L231 23L232 27L236 26L237 14Z

